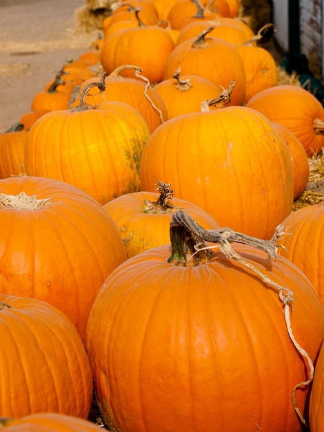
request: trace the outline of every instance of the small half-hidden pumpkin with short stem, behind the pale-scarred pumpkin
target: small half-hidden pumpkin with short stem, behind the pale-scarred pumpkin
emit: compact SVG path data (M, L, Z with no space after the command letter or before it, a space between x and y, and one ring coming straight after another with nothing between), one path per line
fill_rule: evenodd
M154 86L163 100L169 119L200 112L203 101L221 95L221 89L209 79L199 75L180 75L180 72L180 69L175 70L172 78L164 79Z

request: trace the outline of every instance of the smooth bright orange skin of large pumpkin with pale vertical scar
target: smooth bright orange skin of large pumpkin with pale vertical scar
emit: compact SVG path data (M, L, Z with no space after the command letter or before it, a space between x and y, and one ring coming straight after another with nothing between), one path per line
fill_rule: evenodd
M174 196L210 213L220 226L271 238L292 209L292 161L282 135L246 107L174 117L148 139L141 190L168 179Z

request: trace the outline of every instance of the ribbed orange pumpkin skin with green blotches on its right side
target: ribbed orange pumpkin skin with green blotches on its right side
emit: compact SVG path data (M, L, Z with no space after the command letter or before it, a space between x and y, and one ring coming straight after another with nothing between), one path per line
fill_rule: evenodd
M26 173L65 181L105 204L139 190L139 161L149 136L139 112L121 102L50 112L30 128Z

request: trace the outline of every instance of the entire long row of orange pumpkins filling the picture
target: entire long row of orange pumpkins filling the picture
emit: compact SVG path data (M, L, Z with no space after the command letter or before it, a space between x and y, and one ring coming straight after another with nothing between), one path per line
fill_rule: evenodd
M0 136L8 432L323 431L324 110L238 14L118 1Z

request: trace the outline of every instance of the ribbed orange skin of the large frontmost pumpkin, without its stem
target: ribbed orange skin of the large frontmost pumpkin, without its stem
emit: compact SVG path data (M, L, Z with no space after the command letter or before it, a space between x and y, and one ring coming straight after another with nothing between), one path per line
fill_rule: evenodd
M235 250L294 291L292 329L314 360L323 304L287 260ZM103 284L90 313L87 351L99 406L123 432L296 432L292 388L305 366L272 289L217 251L174 266L160 246L128 259ZM296 392L303 412L307 391ZM113 427L115 429L113 429Z

